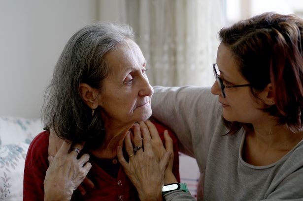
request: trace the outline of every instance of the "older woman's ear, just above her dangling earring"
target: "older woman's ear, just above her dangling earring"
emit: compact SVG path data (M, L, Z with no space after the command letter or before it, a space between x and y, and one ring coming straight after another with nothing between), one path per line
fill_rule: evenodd
M98 95L99 90L96 88L93 88L85 83L80 83L79 85L79 92L82 100L84 103L90 107L91 109L96 109L98 107Z

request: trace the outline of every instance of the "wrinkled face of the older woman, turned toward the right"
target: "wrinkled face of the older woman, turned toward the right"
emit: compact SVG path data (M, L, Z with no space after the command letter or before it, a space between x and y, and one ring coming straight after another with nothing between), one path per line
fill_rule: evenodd
M140 48L128 40L127 44L120 44L107 53L104 59L110 73L103 80L98 99L105 123L134 123L149 118L154 91L145 74L146 60Z

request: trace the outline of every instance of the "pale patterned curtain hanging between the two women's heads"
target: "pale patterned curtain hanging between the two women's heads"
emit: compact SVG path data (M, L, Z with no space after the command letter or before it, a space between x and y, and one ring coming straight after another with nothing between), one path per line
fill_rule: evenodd
M111 1L113 2L113 1ZM117 21L132 25L152 85L210 86L225 0L119 0ZM100 12L107 9L100 6Z

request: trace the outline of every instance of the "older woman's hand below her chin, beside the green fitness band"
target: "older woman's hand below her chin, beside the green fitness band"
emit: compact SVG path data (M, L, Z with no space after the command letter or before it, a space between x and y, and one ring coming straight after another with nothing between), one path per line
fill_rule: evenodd
M140 200L162 201L164 173L173 154L172 141L166 132L167 149L165 149L157 129L152 128L149 130L152 123L143 124L143 122L140 122L141 131L139 124L134 125L133 143L135 148L132 144L130 132L125 137L126 151L130 156L129 162L125 160L120 146L117 149L117 156L126 174L135 185ZM140 148L142 145L144 150Z

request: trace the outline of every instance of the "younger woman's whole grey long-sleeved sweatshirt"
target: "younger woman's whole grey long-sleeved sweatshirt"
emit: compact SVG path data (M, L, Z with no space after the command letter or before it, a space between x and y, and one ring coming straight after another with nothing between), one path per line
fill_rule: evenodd
M245 131L230 136L218 97L198 86L155 86L153 117L179 139L179 150L196 158L198 201L303 201L303 141L277 162L253 166L242 159ZM188 167L190 171L190 167ZM167 201L195 201L173 191Z

